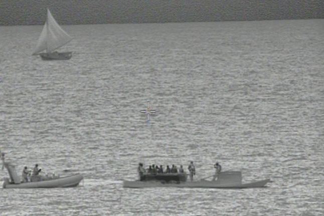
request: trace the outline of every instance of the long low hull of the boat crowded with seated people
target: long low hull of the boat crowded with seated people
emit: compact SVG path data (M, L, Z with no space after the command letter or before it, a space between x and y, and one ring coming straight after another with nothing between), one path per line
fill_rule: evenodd
M146 188L146 187L184 187L184 188L255 188L264 187L270 179L254 181L250 183L219 183L217 181L188 181L181 183L164 183L160 181L123 181L123 187L127 188Z

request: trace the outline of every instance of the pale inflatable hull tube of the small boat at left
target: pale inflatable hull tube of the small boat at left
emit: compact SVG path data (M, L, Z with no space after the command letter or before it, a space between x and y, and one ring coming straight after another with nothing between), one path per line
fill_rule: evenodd
M81 174L75 174L72 176L60 177L56 179L31 181L24 183L9 183L4 182L4 188L48 188L48 187L73 187L77 186L83 179Z

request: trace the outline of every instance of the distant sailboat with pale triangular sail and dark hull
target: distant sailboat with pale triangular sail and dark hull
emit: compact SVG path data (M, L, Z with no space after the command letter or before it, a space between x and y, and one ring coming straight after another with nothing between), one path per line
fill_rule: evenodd
M59 53L55 50L69 43L72 39L59 26L50 10L47 9L46 23L33 55L40 55L43 60L69 60L72 57L72 52ZM45 50L45 53L41 53Z

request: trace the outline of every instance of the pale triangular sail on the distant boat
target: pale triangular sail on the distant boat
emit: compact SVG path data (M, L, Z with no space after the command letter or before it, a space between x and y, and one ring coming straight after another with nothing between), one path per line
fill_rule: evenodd
M70 42L73 38L69 36L53 18L49 9L47 9L47 20L38 39L38 43L33 55L46 50L51 53Z

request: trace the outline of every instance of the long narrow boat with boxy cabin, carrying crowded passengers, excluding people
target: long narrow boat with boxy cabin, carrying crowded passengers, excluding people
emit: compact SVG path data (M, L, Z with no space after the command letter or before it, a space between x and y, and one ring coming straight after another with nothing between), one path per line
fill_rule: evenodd
M270 179L242 183L241 171L223 171L216 173L213 180L201 179L187 181L188 174L184 173L139 173L135 181L123 181L123 187L186 187L186 188L255 188L264 187ZM211 176L210 176L211 177Z

